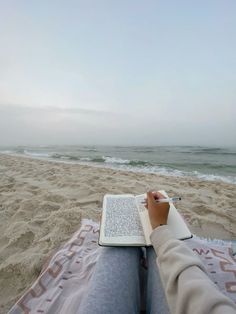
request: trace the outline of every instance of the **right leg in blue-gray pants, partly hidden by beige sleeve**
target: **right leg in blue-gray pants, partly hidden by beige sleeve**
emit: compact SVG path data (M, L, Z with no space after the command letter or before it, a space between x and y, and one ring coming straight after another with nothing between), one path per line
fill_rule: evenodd
M147 313L169 314L165 292L162 288L161 278L156 265L156 253L152 247L147 248L147 268Z

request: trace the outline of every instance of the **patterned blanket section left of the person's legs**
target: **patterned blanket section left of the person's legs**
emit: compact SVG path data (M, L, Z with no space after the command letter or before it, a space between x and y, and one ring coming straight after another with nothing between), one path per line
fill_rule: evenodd
M83 220L9 313L78 313L99 257L98 233L97 223Z

